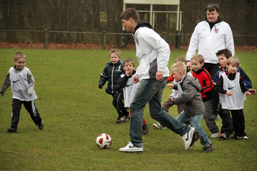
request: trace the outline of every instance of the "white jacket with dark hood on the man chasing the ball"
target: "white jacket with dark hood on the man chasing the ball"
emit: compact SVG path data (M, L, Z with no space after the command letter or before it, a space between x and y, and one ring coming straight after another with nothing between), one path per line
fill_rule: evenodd
M156 78L157 71L162 71L163 76L168 77L169 44L151 29L148 22L142 20L139 21L135 29L134 39L139 62L136 74L139 75L139 79Z

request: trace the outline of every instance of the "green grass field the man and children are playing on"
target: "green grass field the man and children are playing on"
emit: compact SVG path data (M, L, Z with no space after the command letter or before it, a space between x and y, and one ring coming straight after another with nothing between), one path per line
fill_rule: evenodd
M130 141L130 123L116 124L112 96L98 88L108 50L0 49L1 86L16 52L27 56L26 67L35 78L38 95L35 105L45 127L40 131L23 106L17 133L7 132L12 110L8 88L0 97L0 170L257 170L256 95L247 96L244 105L248 141L210 138L213 152L202 153L199 141L185 151L179 135L150 126L143 135L143 153L122 153L118 149ZM186 51L171 52L169 68L181 55ZM236 56L257 89L257 52L236 52ZM122 51L122 60L127 57L136 59L135 51ZM162 101L170 94L165 89ZM176 106L170 114L178 115ZM148 106L144 118L150 125L156 123ZM221 129L221 120L216 123ZM210 137L204 120L201 127ZM101 133L112 137L110 148L97 147Z

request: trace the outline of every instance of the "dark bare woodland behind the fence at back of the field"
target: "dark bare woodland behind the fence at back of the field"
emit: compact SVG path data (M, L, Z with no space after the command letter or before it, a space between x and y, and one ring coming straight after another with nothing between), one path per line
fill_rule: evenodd
M179 42L188 46L198 22L206 18L205 6L217 3L219 16L227 22L236 46L257 44L257 1L196 1L181 0L182 30L177 33L176 15L157 13L155 31L171 46ZM92 44L134 44L133 37L122 34L119 15L122 0L0 0L0 41L54 43L85 42ZM148 5L128 5L127 8L148 10ZM154 5L156 11L175 11L176 7ZM140 12L140 19L149 20L149 14ZM15 31L11 31L15 30ZM108 34L103 37L103 32ZM163 33L164 32L164 33ZM123 40L126 37L126 40Z

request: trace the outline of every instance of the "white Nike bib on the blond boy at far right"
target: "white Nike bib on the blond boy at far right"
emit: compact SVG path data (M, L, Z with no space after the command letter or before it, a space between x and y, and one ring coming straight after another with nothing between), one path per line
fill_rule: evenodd
M221 100L222 109L228 110L240 110L244 108L244 100L246 100L246 95L242 92L240 87L240 73L236 73L234 80L228 79L226 73L223 76L223 89L233 92L232 96L226 94L219 94L219 99ZM232 89L229 89L232 88Z

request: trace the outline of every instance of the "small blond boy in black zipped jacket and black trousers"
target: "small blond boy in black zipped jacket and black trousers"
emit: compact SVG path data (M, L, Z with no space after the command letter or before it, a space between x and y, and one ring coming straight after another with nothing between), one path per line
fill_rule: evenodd
M100 75L99 88L102 89L105 82L108 81L108 87L105 92L113 96L113 105L117 110L118 118L116 123L126 122L128 112L124 108L123 93L118 85L120 75L123 72L123 65L120 61L120 51L118 49L112 49L109 51L109 61L106 63L103 72Z

